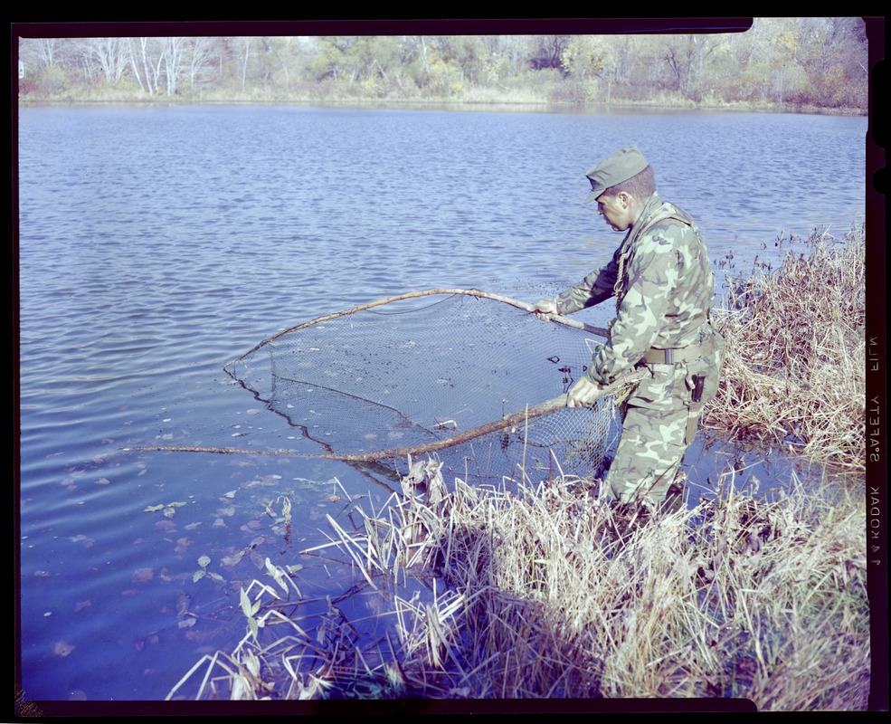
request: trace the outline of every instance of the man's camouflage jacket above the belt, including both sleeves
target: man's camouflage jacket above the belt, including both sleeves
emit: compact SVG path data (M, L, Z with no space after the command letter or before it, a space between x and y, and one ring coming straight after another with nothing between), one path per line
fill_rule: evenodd
M715 303L706 246L687 212L653 194L611 262L557 295L561 314L616 297L609 341L585 373L608 385L649 348L697 342Z

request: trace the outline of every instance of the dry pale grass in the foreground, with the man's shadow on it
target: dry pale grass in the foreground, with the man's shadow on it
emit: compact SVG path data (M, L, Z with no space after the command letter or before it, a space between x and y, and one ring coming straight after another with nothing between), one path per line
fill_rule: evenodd
M391 598L376 648L360 652L362 624L336 605L309 635L269 600L269 623L259 640L245 637L226 686L205 679L214 696L233 698L743 697L763 710L865 708L862 495L797 486L756 502L727 487L652 519L598 508L581 481L516 496L458 481L434 506L393 500L332 543L362 561L367 595ZM439 591L427 601L387 593L417 579L441 581ZM288 635L261 643L276 623Z

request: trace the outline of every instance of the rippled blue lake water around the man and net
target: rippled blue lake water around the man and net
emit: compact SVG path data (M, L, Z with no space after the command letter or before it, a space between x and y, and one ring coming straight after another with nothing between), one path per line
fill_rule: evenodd
M242 638L239 587L266 557L304 567L308 615L349 586L298 551L343 510L338 482L386 499L353 468L128 451L298 446L223 373L234 357L403 291L558 291L621 241L583 205L583 175L632 143L697 218L719 278L731 252L777 254L778 234L842 235L865 215L866 131L716 112L20 110L26 698L163 699ZM288 544L264 514L284 494ZM195 581L204 555L216 577Z

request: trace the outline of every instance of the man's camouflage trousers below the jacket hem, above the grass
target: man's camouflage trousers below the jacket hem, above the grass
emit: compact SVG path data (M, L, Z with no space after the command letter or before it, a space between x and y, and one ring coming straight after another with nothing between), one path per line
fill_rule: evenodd
M687 452L689 408L625 409L621 440L604 486L606 500L665 500Z

